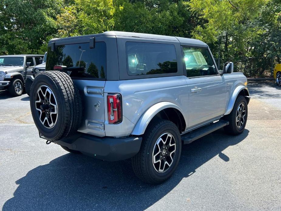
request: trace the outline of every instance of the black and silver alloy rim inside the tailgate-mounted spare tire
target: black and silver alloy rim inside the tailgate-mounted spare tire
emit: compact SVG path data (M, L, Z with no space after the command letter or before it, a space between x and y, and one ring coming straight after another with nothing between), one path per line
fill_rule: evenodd
M57 100L52 90L42 85L36 92L35 107L39 120L46 128L52 128L57 122Z

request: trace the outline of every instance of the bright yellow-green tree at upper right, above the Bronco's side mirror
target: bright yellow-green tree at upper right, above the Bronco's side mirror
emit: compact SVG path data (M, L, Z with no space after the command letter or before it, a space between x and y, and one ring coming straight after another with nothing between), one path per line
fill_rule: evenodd
M192 32L194 38L214 43L223 40L224 57L245 55L249 40L257 40L263 31L251 24L268 0L190 0L190 10L207 23Z

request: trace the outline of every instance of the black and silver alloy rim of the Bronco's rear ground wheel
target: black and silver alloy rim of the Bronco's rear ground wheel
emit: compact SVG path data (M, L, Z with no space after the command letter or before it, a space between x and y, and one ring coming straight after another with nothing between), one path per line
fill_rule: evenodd
M167 171L173 163L176 152L176 141L171 133L162 134L154 145L152 163L159 173Z

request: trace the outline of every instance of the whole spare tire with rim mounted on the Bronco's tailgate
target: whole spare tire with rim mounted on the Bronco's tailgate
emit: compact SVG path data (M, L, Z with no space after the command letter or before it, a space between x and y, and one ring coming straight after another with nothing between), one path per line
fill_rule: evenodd
M30 91L30 109L39 133L50 141L73 135L81 123L81 97L64 72L42 71L36 75Z

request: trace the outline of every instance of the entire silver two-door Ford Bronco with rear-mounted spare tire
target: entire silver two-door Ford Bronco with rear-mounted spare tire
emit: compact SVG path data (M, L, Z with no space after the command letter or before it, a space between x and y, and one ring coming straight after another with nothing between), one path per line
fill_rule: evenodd
M72 153L131 158L157 184L175 171L182 144L219 128L243 132L247 78L218 70L206 43L109 31L50 40L46 71L32 84L39 136Z

